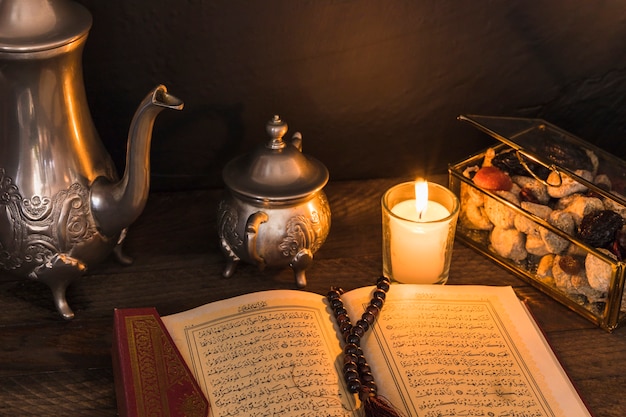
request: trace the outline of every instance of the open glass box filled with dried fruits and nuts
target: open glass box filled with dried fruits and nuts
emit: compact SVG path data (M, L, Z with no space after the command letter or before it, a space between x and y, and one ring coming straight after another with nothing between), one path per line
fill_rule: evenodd
M540 119L460 119L500 143L449 167L457 238L613 330L626 316L626 163Z

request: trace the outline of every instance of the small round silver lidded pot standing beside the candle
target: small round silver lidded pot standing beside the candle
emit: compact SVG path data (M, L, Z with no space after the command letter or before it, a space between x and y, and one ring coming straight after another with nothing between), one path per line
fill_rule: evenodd
M288 126L279 116L267 123L270 139L230 161L218 207L218 234L230 277L241 260L260 269L290 266L296 285L330 231L330 206L322 188L328 170L302 153L302 135L283 140Z

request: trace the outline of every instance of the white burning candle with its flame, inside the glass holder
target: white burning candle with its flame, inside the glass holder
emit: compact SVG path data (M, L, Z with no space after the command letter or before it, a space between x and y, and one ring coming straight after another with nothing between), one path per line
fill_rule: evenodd
M450 211L428 199L428 183L421 180L415 183L415 199L400 201L391 212L393 279L414 284L439 282L446 265Z

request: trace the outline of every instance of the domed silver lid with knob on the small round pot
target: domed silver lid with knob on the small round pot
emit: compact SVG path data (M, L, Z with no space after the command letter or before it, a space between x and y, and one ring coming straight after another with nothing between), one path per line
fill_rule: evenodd
M287 124L279 116L267 123L270 140L224 167L222 176L233 192L256 200L286 201L306 197L328 182L328 169L301 151L302 137L295 133L292 143L283 141Z

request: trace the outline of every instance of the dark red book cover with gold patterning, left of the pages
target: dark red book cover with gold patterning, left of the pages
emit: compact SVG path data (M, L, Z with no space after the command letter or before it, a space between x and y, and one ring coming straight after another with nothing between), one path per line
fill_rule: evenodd
M113 371L121 417L206 417L209 403L155 308L115 309Z

